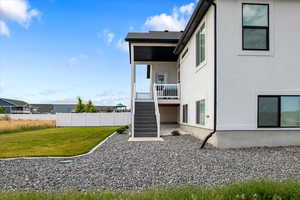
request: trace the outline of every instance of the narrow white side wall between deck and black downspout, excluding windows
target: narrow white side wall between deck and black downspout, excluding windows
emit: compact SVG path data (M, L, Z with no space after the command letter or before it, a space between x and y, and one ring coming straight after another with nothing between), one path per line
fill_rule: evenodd
M206 60L196 67L196 33L206 24ZM183 53L188 48L188 53ZM180 55L180 123L193 135L205 137L214 126L214 9L211 7ZM196 124L196 101L205 100L205 125ZM188 123L182 123L182 106L188 104ZM203 136L204 134L204 136Z

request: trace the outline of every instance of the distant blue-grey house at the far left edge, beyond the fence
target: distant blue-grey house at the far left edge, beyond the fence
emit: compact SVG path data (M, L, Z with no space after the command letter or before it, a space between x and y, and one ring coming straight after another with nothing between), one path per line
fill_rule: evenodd
M0 98L0 106L5 108L7 114L30 114L30 105L25 101Z

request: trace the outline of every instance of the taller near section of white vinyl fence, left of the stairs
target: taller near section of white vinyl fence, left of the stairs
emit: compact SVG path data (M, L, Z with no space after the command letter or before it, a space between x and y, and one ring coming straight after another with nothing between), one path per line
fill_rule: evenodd
M56 114L56 126L126 126L131 113L68 113Z

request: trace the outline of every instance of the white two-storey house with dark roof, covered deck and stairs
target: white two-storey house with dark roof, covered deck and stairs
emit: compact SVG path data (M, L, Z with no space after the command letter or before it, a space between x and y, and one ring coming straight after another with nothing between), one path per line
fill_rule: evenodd
M300 145L300 1L200 0L182 32L129 33L132 137L178 123L219 148ZM136 91L136 66L151 87Z

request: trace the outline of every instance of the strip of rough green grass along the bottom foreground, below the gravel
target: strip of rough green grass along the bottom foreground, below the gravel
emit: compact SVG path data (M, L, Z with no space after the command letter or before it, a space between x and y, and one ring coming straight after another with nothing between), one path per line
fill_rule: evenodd
M201 187L161 188L143 192L0 193L1 200L296 200L296 181L250 181L204 189Z

